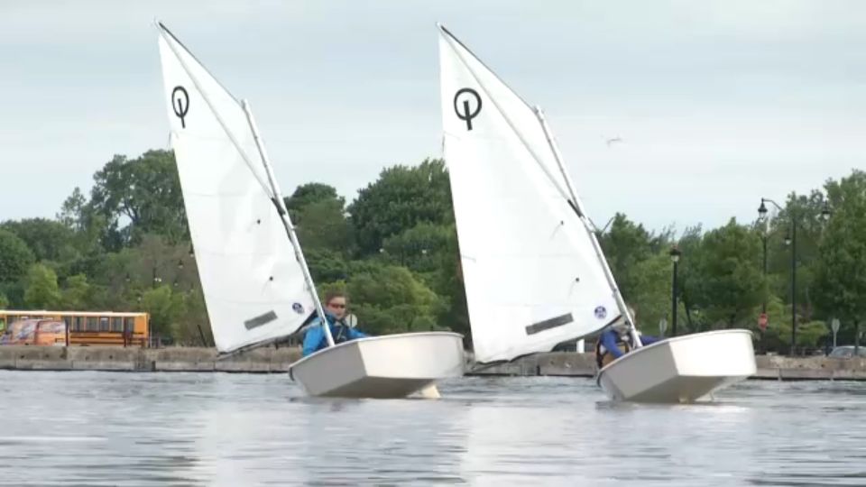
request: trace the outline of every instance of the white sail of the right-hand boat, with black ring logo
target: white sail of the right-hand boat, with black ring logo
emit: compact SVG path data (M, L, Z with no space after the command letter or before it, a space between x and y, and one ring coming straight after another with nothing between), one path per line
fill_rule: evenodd
M439 28L444 152L475 360L512 360L621 315L539 118Z

